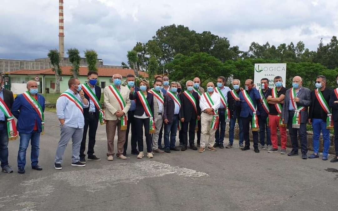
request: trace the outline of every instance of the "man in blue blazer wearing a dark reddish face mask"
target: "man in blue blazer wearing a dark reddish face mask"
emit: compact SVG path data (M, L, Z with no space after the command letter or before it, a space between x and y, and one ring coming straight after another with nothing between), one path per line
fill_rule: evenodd
M243 133L245 140L245 147L242 149L250 149L249 127L251 124L252 136L254 139L254 150L259 153L258 149L258 115L260 114L257 109L257 102L261 98L254 81L247 79L245 81L245 90L241 91L238 95L239 101L236 101L236 106L241 106L240 117L243 121Z

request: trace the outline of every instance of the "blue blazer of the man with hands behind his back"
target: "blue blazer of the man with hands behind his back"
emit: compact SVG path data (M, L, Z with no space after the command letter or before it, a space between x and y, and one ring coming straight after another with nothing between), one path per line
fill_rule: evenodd
M38 95L38 103L40 104L42 111L45 111L45 98L42 95ZM20 110L20 111L19 111ZM31 133L37 122L38 132L41 133L41 119L39 114L32 105L21 94L15 98L11 112L18 119L17 130L21 133Z

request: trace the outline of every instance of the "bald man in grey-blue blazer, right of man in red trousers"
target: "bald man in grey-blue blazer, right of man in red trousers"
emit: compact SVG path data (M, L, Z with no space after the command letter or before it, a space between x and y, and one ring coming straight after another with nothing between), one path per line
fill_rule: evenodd
M311 105L311 91L302 86L300 76L292 79L292 88L286 91L282 121L288 125L292 143L292 151L288 156L298 155L298 138L301 144L301 158L307 159L308 142L306 137L306 123L308 122L308 107Z

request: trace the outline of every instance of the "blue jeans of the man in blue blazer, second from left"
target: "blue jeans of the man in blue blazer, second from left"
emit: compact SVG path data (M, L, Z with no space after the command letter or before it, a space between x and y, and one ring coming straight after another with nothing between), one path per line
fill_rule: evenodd
M29 139L31 145L30 159L32 161L32 166L38 165L40 133L37 130L33 130L31 133L19 133L19 135L20 146L18 154L18 167L25 167L26 165L26 150L29 145Z

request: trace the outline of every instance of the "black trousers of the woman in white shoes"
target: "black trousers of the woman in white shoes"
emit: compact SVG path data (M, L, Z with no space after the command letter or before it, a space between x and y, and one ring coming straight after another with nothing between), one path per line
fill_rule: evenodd
M139 146L139 151L143 152L143 130L142 127L144 126L144 136L146 137L146 144L147 144L147 152L152 151L152 140L151 135L149 133L149 118L141 119L134 117L134 122L136 125L136 135L137 135L137 144Z

